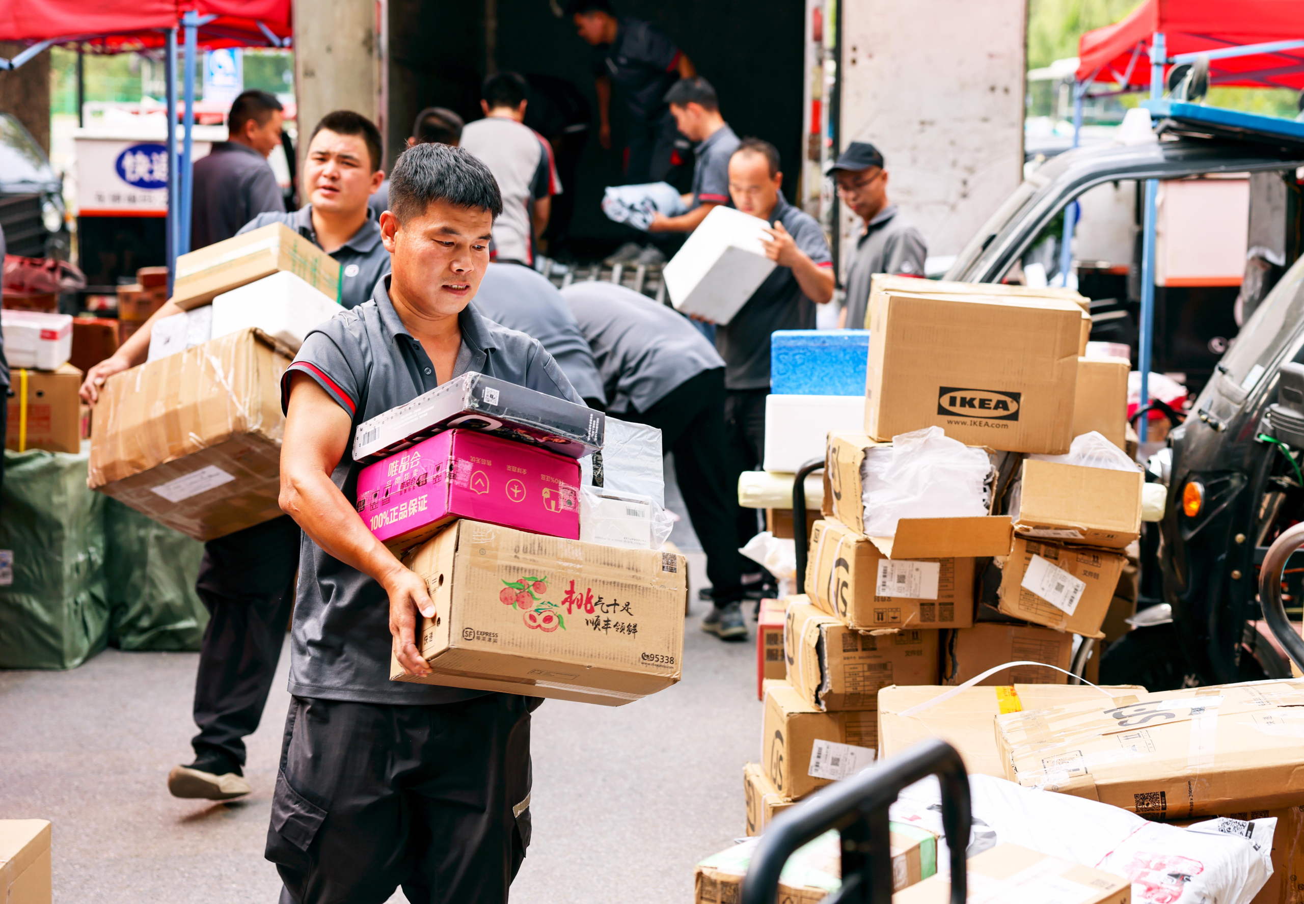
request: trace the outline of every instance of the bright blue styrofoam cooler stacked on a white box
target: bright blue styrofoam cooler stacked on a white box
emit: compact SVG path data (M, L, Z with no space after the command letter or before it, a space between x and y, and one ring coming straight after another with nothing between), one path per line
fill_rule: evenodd
M769 391L777 395L865 395L868 330L775 330Z

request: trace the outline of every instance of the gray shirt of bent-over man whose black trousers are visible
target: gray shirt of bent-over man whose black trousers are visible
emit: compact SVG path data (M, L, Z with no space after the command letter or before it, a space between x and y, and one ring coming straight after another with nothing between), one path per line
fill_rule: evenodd
M593 350L613 414L645 412L703 370L725 365L689 318L631 288L579 282L562 297Z

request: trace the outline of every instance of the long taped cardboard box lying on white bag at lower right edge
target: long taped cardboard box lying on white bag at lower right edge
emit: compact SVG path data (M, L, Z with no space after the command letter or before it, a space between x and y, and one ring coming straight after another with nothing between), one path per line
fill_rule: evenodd
M1254 681L996 719L1005 777L1150 819L1304 805L1304 687Z

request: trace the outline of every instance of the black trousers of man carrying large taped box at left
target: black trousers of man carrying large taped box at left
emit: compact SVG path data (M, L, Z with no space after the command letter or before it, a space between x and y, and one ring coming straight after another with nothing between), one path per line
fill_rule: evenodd
M244 766L244 738L262 719L295 605L299 537L282 515L203 544L194 590L210 618L194 678L197 757Z

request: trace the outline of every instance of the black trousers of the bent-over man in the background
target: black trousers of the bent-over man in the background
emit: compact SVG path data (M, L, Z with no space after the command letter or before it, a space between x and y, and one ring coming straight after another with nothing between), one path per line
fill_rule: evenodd
M724 369L703 370L647 411L622 417L661 430L661 449L674 453L674 476L707 553L712 599L717 604L742 599L745 560L734 528L738 472L725 441Z

